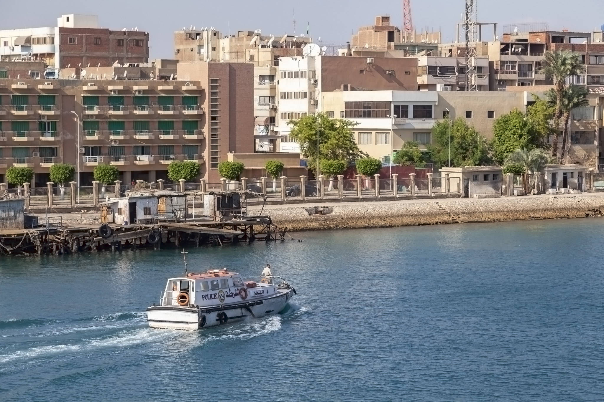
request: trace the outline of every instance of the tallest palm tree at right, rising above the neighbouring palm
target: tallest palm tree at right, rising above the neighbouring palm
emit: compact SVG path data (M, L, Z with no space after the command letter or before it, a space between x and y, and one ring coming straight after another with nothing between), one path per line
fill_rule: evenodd
M554 80L554 93L556 93L556 109L554 111L554 143L552 155L557 156L558 134L560 131L560 119L562 118L562 94L566 87L565 81L569 75L578 75L585 71L581 63L581 55L571 51L547 52L541 61L540 74L548 75Z

